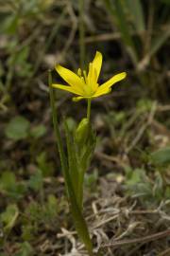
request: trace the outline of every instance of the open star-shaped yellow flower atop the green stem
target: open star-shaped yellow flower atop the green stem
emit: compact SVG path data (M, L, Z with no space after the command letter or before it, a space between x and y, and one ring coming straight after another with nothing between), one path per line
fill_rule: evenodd
M119 82L126 78L127 73L119 73L110 78L109 81L99 85L98 77L100 74L101 65L102 54L99 51L96 51L93 62L89 64L88 75L85 70L82 71L80 68L78 68L76 74L58 64L56 66L56 70L59 73L59 76L69 85L53 83L52 86L76 94L77 97L73 99L74 101L84 98L92 99L107 94L110 92L111 86L115 82Z

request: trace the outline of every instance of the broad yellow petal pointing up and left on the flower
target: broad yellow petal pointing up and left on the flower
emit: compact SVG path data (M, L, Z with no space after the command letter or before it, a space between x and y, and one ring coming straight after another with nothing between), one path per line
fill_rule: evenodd
M65 82L68 82L79 94L83 94L84 83L74 72L59 64L56 66L56 70Z

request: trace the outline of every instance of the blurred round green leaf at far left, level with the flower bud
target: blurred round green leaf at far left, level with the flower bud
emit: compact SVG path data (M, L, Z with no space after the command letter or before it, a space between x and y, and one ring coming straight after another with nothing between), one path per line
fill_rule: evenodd
M19 140L28 136L29 121L21 116L10 119L6 127L5 133L8 138Z

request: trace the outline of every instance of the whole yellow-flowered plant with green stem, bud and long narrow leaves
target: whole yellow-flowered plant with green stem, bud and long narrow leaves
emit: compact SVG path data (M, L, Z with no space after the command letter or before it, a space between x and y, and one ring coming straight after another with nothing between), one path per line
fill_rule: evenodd
M102 96L110 92L110 87L115 82L119 82L126 77L126 73L113 76L108 82L98 85L98 77L102 65L102 55L96 51L93 62L89 64L88 74L85 70L78 69L77 75L69 69L60 65L56 66L59 75L69 85L60 85L52 82L49 73L50 101L53 114L53 123L56 139L59 148L61 169L65 180L66 192L70 203L70 210L73 215L77 233L82 239L89 255L93 255L93 244L86 221L82 215L83 204L83 184L84 174L87 171L93 155L95 146L95 135L91 124L91 101L95 97ZM70 91L78 97L73 101L87 99L87 118L81 119L74 132L69 131L67 122L64 120L64 131L67 141L67 155L64 153L63 143L59 133L58 115L55 109L55 98L52 87Z

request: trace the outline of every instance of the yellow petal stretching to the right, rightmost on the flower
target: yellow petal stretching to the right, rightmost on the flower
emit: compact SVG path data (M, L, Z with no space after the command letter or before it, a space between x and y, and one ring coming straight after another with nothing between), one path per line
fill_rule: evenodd
M96 91L96 94L99 93L99 94L102 94L105 92L107 92L110 88L110 86L112 86L115 82L119 82L123 79L125 79L127 76L127 73L126 72L122 72L120 74L117 74L115 76L113 76L109 81L107 82L104 82L102 85L100 85Z

